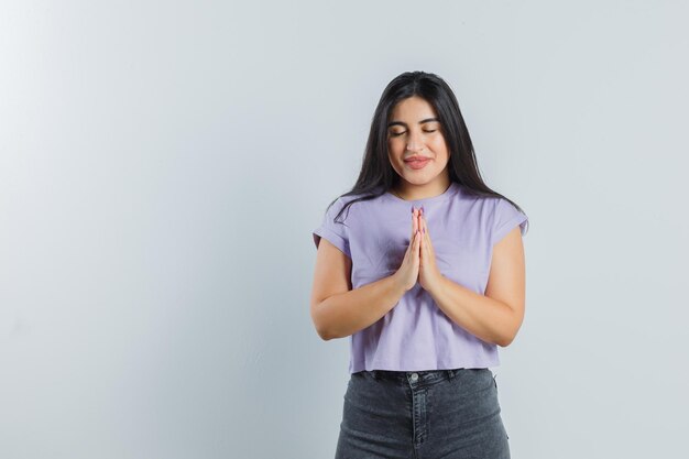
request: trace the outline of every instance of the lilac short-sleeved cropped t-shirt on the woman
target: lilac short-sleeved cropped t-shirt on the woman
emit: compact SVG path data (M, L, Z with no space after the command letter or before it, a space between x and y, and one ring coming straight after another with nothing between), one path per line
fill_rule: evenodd
M404 200L385 193L353 203L338 222L332 221L347 203L360 196L338 198L313 231L316 248L324 237L351 259L352 288L397 271L409 244L413 206L424 206L440 273L480 294L485 293L493 245L517 225L524 234L527 221L507 200L470 195L455 182L427 199ZM500 364L497 346L450 320L418 283L380 320L353 334L350 351L350 373Z

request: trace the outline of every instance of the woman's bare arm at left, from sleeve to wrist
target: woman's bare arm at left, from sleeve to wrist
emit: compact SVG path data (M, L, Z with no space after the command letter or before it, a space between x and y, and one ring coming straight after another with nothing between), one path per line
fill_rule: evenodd
M316 255L310 314L324 340L343 338L385 316L406 289L395 274L351 287L351 259L321 238Z

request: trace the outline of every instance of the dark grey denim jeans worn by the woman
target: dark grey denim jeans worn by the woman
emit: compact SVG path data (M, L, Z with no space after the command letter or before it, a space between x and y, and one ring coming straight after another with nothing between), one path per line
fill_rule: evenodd
M344 393L336 459L510 459L488 368L359 371Z

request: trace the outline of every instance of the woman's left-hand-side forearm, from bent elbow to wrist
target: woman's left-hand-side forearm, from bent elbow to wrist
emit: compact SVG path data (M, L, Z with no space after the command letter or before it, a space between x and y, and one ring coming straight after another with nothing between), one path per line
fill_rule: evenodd
M380 320L404 295L394 275L332 295L317 307L314 320L325 340L343 338Z

